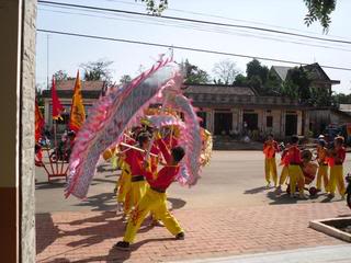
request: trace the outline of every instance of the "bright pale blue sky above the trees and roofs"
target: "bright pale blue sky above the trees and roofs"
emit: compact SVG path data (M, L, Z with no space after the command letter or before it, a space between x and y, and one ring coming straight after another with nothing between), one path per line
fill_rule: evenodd
M93 5L146 13L145 4L135 0L71 0L56 2ZM169 0L162 14L220 23L259 26L310 36L351 42L350 0L338 0L332 13L328 34L322 33L318 22L307 27L304 18L307 9L303 0ZM249 58L195 53L173 49L176 61L189 59L193 65L213 76L216 62L230 59L245 73L246 64L254 57L267 57L351 69L351 44L320 42L301 37L258 32L244 28L200 25L188 22L166 21L158 18L115 14L78 9L63 9L38 4L37 28L69 33L124 38L139 42L185 46L215 52L247 55ZM149 68L159 54L169 48L90 39L37 32L36 82L46 87L47 76L65 70L76 76L79 66L88 61L105 59L113 61L113 79L121 76L136 77L140 69ZM296 66L260 60L262 65ZM351 70L326 69L332 80L335 92L351 93Z

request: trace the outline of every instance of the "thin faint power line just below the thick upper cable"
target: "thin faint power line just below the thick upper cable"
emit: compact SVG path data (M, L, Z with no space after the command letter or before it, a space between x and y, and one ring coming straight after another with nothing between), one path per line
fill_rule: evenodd
M73 9L73 8L68 8L68 9L71 9L75 11L78 10L78 9ZM131 19L128 16L127 16L127 19L121 19L121 18L112 18L112 16L107 16L107 15L97 15L97 14L91 14L91 13L84 13L86 11L82 11L83 13L81 13L81 12L60 11L60 10L50 10L50 9L42 9L42 8L39 8L39 10L46 11L46 12L63 13L63 14L75 14L75 15L83 15L83 16L90 16L90 18L136 22L136 23L143 23L143 24L147 23L147 24L152 24L152 25L172 26L172 27L179 27L179 28L190 28L190 30L202 31L202 32L211 32L211 33L225 34L225 35L236 35L236 36L242 36L242 37L254 37L254 38L260 38L260 39L268 39L268 41L274 41L274 42L281 42L281 43L290 43L290 44L296 44L296 45L303 45L303 46L313 46L313 47L320 47L320 48L327 48L327 49L351 52L351 49L342 48L342 46L318 45L318 44L313 44L313 43L308 43L308 42L298 42L298 41L296 41L296 38L286 38L286 39L285 38L276 38L274 36L271 36L271 35L264 34L264 33L252 33L252 32L240 31L240 30L236 30L235 32L231 32L231 31L226 31L225 28L218 30L218 28L214 28L211 26L204 27L202 25L200 25L200 27L199 27L196 25L189 25L189 24L165 24L159 21L144 21L143 19ZM91 12L91 10L87 10L87 12ZM95 11L94 11L94 13L95 13Z

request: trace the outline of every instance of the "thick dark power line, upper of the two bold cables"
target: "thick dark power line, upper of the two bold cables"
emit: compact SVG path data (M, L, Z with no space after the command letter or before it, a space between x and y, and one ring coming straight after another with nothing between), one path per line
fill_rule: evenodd
M126 10L120 10L120 9L97 8L97 7L91 7L91 5L81 5L81 4L71 4L71 3L59 3L59 2L43 1L43 0L39 0L38 3L48 4L48 5L59 5L59 7L70 7L70 8L89 9L89 10L100 10L100 11L105 11L105 12L126 13L126 14L132 14L132 15L140 15L140 16L147 16L147 18L155 18L155 16L151 15L151 14L146 14L146 13L140 13L140 12L134 12L134 11L126 11ZM269 32L269 33L291 35L291 36L297 36L297 37L304 37L304 38L317 39L317 41L325 41L325 42L332 42L332 43L351 44L350 41L341 41L341 39L332 39L332 38L322 38L322 37L317 37L317 36L309 36L309 35L304 35L304 34L290 33L290 32L285 32L285 31L270 30L270 28L258 27L258 26L250 26L250 25L239 25L239 24L219 23L219 22L213 22L213 21L193 20L193 19L185 19L185 18L178 18L178 16L169 16L169 15L161 15L161 16L157 16L157 18L163 19L163 20L185 21L185 22L191 22L191 23L211 24L211 25L217 25L217 26L227 26L227 27L237 27L237 28L247 28L247 30L254 30L254 31L263 31L263 32Z

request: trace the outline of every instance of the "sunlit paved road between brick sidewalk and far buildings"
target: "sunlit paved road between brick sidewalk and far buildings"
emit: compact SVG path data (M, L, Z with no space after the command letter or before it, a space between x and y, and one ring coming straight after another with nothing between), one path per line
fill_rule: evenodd
M346 171L351 170L348 155ZM45 172L36 168L36 213L65 210L113 210L113 188L120 171L112 171L102 162L89 190L89 198L65 199L65 181L47 183ZM279 168L279 172L280 172ZM273 190L264 188L263 155L260 151L214 151L203 169L202 179L192 188L174 183L168 192L173 208L246 207L291 203L329 202L325 195L315 199L297 201L285 195L276 197ZM337 196L332 202L340 202Z

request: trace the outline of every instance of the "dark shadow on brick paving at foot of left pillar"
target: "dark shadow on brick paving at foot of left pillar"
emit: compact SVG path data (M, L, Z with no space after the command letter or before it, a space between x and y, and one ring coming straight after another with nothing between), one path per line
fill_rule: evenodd
M36 231L36 254L43 252L61 235L59 229L54 225L50 214L35 215L35 231Z

